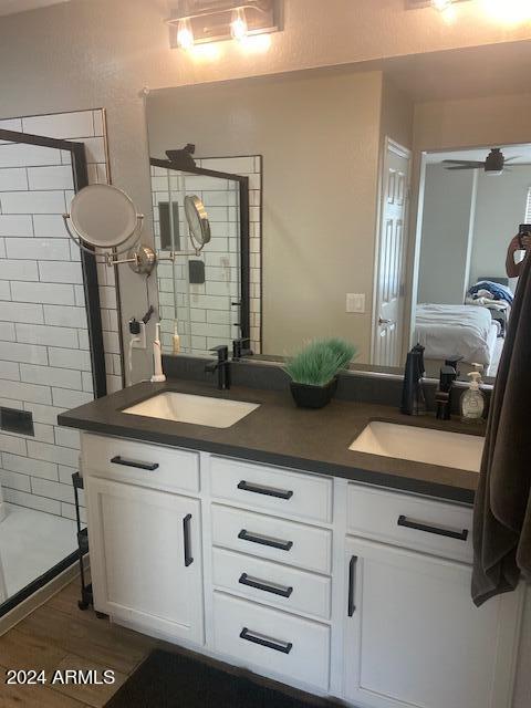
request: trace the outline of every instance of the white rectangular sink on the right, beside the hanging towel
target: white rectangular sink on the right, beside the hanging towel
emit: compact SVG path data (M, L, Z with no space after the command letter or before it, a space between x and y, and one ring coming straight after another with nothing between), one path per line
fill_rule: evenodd
M483 444L476 435L373 420L348 449L479 472Z

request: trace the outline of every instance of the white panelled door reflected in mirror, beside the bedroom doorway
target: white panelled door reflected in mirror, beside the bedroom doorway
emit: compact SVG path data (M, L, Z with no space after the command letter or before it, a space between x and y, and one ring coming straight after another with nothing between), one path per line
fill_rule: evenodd
M372 363L377 366L402 364L410 160L407 148L385 139L373 323Z

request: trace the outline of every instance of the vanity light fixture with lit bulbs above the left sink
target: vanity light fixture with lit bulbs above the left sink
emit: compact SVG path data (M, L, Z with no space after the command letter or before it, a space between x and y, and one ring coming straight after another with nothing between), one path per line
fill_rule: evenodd
M170 0L171 48L191 50L205 43L279 31L282 0Z

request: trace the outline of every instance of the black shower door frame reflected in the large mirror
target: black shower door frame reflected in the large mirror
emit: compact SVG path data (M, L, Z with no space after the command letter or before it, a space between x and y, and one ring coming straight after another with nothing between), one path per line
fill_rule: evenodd
M149 158L149 165L152 167L163 167L164 169L173 169L174 171L188 173L190 175L202 175L204 177L219 177L220 179L238 183L240 191L240 336L243 340L250 340L249 177L235 175L232 173L222 173L216 169L206 169L205 167L181 167L168 159L158 159L156 157Z

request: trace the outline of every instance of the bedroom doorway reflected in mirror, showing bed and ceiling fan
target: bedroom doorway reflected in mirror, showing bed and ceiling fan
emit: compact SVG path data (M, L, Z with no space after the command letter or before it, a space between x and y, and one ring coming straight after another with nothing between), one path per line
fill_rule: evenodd
M531 250L531 144L424 153L419 184L409 342L427 376L459 357L461 378L494 377Z

